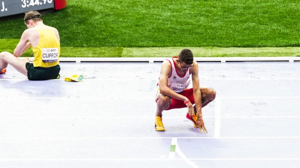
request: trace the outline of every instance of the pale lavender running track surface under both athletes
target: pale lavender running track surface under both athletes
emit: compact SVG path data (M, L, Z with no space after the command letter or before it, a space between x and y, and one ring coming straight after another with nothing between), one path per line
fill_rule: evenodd
M0 167L300 167L299 62L199 62L207 134L187 109L154 129L161 62L61 62L61 79L0 75ZM83 74L80 83L64 77Z

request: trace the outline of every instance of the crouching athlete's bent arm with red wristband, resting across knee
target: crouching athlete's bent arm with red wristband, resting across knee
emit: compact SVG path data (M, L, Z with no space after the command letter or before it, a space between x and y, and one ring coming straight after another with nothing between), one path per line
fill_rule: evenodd
M165 96L173 97L174 99L183 100L187 102L185 105L187 106L187 112L190 115L194 115L193 104L190 103L187 97L176 93L171 88L168 87L168 77L171 75L172 65L169 61L165 60L161 65L161 76L159 78L159 91L160 94Z

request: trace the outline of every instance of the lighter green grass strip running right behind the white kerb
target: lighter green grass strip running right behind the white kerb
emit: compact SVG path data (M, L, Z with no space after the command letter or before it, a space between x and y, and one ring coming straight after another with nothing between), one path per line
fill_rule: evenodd
M18 39L0 39L0 52L13 53ZM194 57L278 57L300 56L300 47L219 48L219 47L61 47L60 57L170 57L189 48ZM22 57L32 56L31 49Z

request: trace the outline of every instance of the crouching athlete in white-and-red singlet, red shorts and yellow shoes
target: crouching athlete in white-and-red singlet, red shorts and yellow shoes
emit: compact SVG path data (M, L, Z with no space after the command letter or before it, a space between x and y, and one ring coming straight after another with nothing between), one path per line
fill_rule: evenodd
M202 133L207 133L202 119L202 107L213 101L216 92L211 87L199 86L198 63L193 60L193 53L189 49L180 51L179 56L169 58L161 65L158 92L156 94L155 130L165 131L162 123L164 110L187 107L186 117L193 121ZM193 88L188 89L192 75ZM195 106L193 106L195 104Z

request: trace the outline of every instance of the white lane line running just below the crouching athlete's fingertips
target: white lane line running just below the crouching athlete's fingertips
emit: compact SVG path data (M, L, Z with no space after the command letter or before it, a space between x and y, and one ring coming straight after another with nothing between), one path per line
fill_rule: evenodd
M200 133L199 133L200 135ZM0 139L172 139L174 137L1 137ZM300 136L292 137L176 137L177 139L300 139Z

